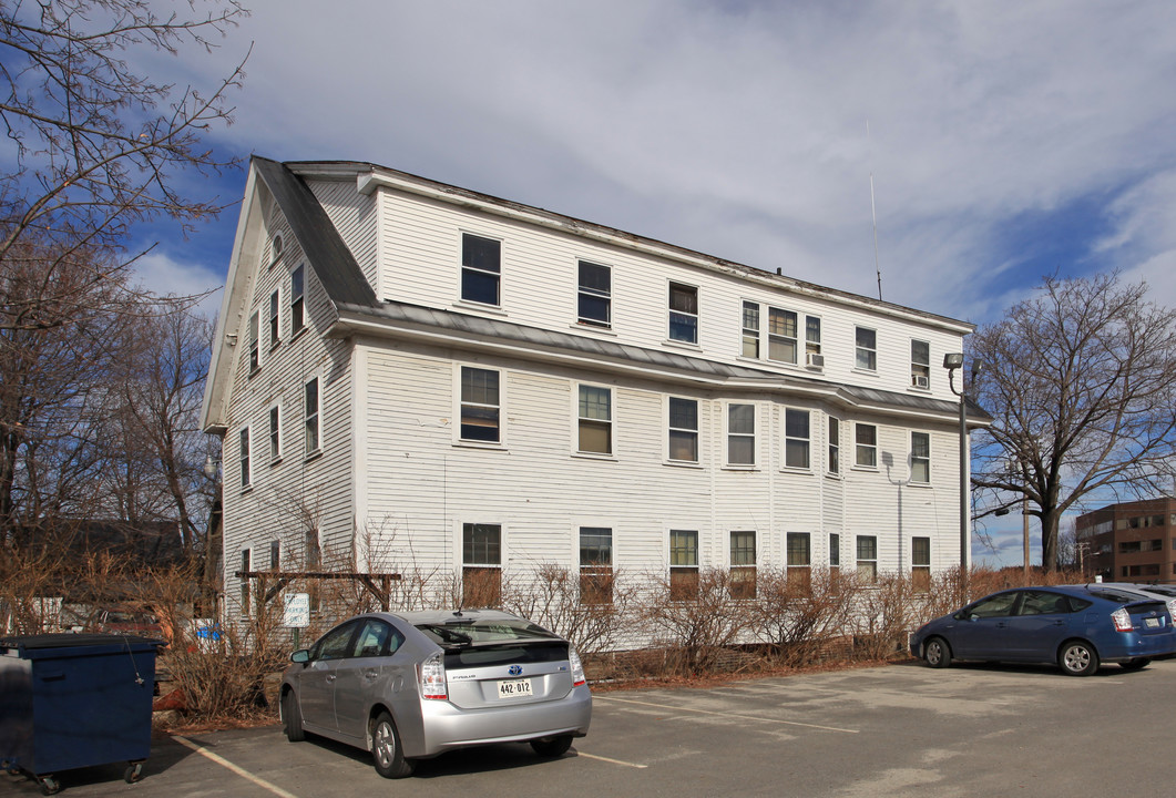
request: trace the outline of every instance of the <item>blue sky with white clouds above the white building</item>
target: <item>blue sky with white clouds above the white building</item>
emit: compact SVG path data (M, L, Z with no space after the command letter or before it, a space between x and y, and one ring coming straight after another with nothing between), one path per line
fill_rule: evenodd
M869 296L873 174L888 301L982 323L1118 268L1176 304L1170 0L246 5L212 55L152 63L207 87L252 43L226 153L373 161ZM235 223L143 230L141 280L220 287Z

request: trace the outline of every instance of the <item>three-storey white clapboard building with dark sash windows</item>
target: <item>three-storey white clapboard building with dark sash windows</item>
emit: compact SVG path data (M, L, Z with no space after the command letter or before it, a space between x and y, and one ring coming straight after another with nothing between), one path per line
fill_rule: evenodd
M942 361L973 326L763 266L370 163L254 157L202 415L226 594L292 563L683 589L958 565Z

